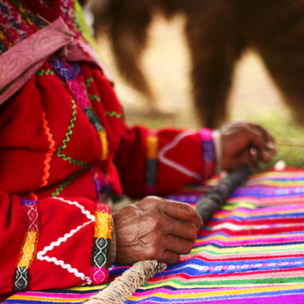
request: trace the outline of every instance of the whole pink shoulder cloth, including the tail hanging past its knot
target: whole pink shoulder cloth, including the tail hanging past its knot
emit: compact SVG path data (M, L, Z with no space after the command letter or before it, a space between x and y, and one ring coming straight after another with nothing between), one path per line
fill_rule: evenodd
M98 65L105 77L112 81L108 69L103 65L93 47L78 40L61 17L37 33L17 43L0 56L0 105L15 94L35 75L51 55L59 51L60 56L71 61L89 61Z

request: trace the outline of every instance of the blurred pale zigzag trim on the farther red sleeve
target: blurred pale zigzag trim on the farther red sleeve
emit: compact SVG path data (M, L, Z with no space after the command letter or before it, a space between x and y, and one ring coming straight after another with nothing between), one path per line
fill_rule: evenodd
M196 172L189 170L185 167L183 167L181 164L178 164L177 162L174 162L173 160L169 160L164 154L167 153L169 150L173 149L177 144L183 140L184 137L187 137L188 135L194 134L194 131L187 130L183 133L178 134L172 142L169 142L169 144L166 144L165 146L160 149L158 152L158 159L160 162L163 162L164 164L167 164L167 166L176 169L177 171L180 171L181 173L190 176L192 178L195 178L197 180L200 180L202 176L200 174L197 174Z

